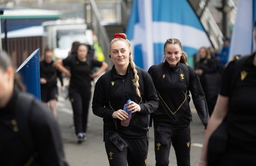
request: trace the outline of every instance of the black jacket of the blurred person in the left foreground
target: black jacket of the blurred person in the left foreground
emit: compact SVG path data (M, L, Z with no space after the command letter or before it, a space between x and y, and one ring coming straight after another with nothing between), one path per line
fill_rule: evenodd
M31 165L68 165L56 118L36 99L29 110L20 110L24 109L18 101L20 93L15 89L6 107L0 108L0 165L25 165L35 152Z

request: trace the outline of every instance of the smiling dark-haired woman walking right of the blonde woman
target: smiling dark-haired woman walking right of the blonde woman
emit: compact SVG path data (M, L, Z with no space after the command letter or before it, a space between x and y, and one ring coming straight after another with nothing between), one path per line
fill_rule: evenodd
M205 128L209 114L204 91L193 68L187 65L187 56L180 41L170 38L164 43L163 63L149 68L160 105L152 114L155 134L156 166L168 166L170 148L173 146L177 165L190 165L189 92L195 109Z

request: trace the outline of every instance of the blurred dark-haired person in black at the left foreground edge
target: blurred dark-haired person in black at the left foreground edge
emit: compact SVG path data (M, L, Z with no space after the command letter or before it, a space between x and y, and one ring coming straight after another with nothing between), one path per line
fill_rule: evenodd
M21 92L15 69L0 52L0 165L68 165L51 110Z

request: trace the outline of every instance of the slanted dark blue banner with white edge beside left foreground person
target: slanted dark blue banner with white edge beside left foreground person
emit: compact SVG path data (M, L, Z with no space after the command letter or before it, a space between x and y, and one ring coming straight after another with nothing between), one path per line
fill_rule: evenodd
M22 82L26 86L28 93L33 94L38 100L40 93L40 51L36 49L16 71L20 74Z

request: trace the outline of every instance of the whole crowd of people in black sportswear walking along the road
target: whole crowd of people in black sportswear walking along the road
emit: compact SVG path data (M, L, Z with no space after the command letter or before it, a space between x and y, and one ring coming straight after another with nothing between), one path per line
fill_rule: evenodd
M256 31L256 23L254 28ZM169 38L163 47L164 61L148 71L134 63L136 55L132 55L124 33L114 34L109 44L109 58L113 61L109 70L104 59L97 60L92 46L85 43L75 41L68 56L55 61L54 52L46 48L40 61L41 102L23 92L10 57L0 52L0 131L6 135L0 137L0 156L6 156L0 163L68 165L56 121L57 79L63 91L64 74L70 79L68 99L78 144L86 140L92 80L99 78L92 111L103 118L103 140L111 166L147 165L148 132L152 126L156 166L169 165L172 146L177 165L190 165L191 99L206 131L198 165L256 165L256 98L252 97L256 93L256 53L228 61L228 42L225 39L225 47L216 54L200 47L193 68L187 63L181 41ZM221 147L224 152L218 155L209 144L222 124L228 139L227 146ZM217 146L220 142L215 143ZM220 157L213 161L211 156Z

